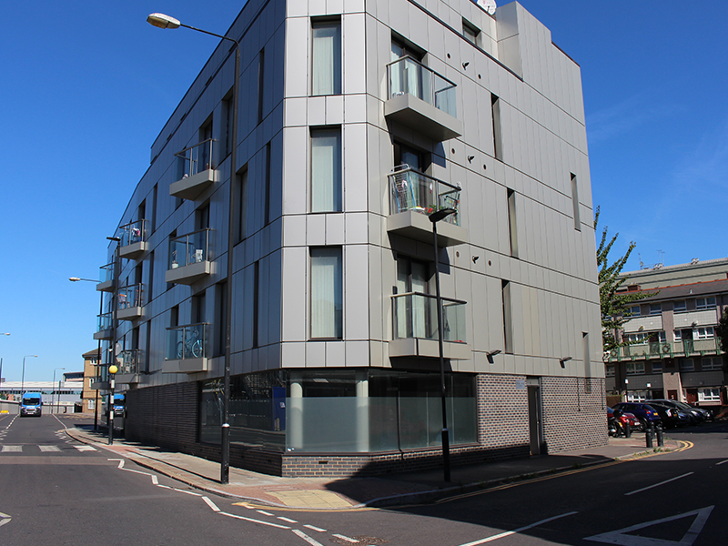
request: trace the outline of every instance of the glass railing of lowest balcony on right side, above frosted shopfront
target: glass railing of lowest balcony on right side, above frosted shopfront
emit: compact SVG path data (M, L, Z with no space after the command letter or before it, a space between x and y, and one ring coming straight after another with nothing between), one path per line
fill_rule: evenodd
M438 339L437 297L420 292L395 294L394 339ZM442 340L465 343L465 304L459 299L442 300Z

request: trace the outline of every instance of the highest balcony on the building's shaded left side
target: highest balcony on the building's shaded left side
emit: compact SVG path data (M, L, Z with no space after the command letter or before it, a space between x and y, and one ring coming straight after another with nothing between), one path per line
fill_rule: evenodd
M217 182L219 174L213 163L213 139L187 147L177 157L177 182L169 187L169 195L194 201L207 187Z

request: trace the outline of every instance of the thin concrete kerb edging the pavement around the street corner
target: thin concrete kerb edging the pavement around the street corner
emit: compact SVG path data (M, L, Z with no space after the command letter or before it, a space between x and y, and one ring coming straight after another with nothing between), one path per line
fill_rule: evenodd
M149 470L154 470L154 471L158 472L159 474L162 474L163 476L167 476L168 478L172 478L173 480L180 481L197 490L203 490L203 491L206 491L209 493L219 495L221 497L225 497L227 499L235 499L238 501L248 501L250 503L260 504L260 505L268 506L271 508L285 508L285 509L296 508L296 507L288 506L285 504L279 504L277 502L268 501L266 499L260 499L260 498L253 497L253 496L242 495L242 494L239 494L239 493L236 493L233 491L229 491L229 490L223 490L218 487L219 484L217 482L212 482L211 480L200 479L197 477L190 477L189 473L186 470L175 470L174 468L169 468L169 465L164 463L164 461L146 457L144 454L136 451L135 448L133 448L133 447L124 446L121 450L119 450L119 449L115 449L115 448L106 446L103 443L95 440L94 438L87 436L83 430L68 429L68 430L66 430L66 433L69 436L71 436L72 438L74 438L75 440L78 440L82 443L94 444L98 447L104 448L109 451L114 451L116 453L118 453L119 451L122 451L122 450L126 451L126 458L129 460L132 460L139 466L147 468ZM532 472L523 473L523 474L519 474L519 475L494 478L492 480L480 480L480 481L476 481L476 482L460 484L460 485L446 487L446 488L389 495L386 497L375 498L375 499L372 499L372 500L369 500L366 502L352 503L350 506L344 507L344 508L317 509L317 508L305 507L305 509L310 510L310 511L316 511L316 510L350 511L350 510L357 510L357 509L362 509L362 508L387 508L387 507L392 507L392 506L401 506L404 504L422 504L422 503L428 503L428 502L434 502L434 501L441 501L443 499L447 499L454 495L465 494L465 493L470 493L470 492L479 491L479 490L485 491L485 490L489 490L491 488L494 488L494 487L497 487L497 486L503 485L503 484L526 482L528 480L532 480L535 478L541 478L543 476L558 475L558 474L561 474L561 473L564 473L564 472L567 472L570 470L575 470L575 468L581 469L581 468L588 468L591 466L599 466L599 465L607 464L607 463L613 462L613 461L626 461L626 460L632 460L632 459L639 459L639 458L642 458L642 457L645 457L648 455L660 455L662 453L668 453L672 450L673 449L668 448L668 447L665 447L664 450L660 450L660 451L658 451L658 450L640 450L640 451L635 451L633 453L625 454L625 455L622 455L619 457L613 457L613 458L607 457L604 460L587 461L587 462L581 463L578 467L574 467L574 465L555 467L552 469L535 470ZM213 483L215 484L215 487L213 487ZM303 509L304 507L298 507L298 508Z

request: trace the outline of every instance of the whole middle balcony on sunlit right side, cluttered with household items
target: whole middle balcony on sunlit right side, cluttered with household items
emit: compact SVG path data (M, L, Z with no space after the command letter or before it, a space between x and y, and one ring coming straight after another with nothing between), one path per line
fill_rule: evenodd
M440 208L454 208L456 212L438 223L438 245L451 247L467 242L468 230L460 226L460 187L423 175L408 165L395 167L389 175L389 233L431 243L429 216Z

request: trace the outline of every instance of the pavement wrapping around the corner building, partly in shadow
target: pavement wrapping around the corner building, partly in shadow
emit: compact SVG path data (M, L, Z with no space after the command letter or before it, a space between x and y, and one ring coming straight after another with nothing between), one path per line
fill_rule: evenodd
M363 478L283 478L230 467L229 482L220 483L220 463L185 453L163 450L115 439L107 445L106 429L65 421L66 433L75 440L97 449L115 452L157 474L186 483L244 504L321 511L346 511L366 507L385 507L424 503L496 487L517 480L531 480L547 474L567 472L588 466L631 460L677 450L682 443L665 437L662 448L646 448L644 433L632 438L610 438L606 446L587 450L562 451L550 455L499 460L454 467L450 482L442 469L422 470L380 477ZM654 442L657 446L657 442Z

